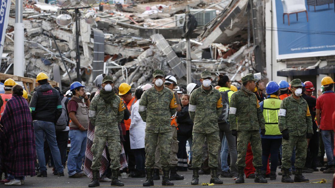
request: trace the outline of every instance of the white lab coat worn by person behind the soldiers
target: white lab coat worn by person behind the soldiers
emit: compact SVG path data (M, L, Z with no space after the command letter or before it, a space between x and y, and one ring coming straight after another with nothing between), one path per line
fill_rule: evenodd
M131 110L131 123L129 128L130 149L144 148L144 135L146 123L138 113L138 104L140 99L135 102Z

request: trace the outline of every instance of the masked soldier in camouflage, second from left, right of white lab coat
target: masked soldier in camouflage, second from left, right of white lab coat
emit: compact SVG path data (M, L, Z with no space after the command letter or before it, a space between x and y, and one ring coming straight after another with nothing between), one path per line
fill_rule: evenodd
M162 185L174 185L169 180L171 152L171 116L175 114L177 101L173 92L163 86L164 72L153 71L154 87L145 90L141 97L138 113L146 122L145 166L147 180L143 186L153 186L152 172L155 164L155 151L159 139L160 164L163 170Z

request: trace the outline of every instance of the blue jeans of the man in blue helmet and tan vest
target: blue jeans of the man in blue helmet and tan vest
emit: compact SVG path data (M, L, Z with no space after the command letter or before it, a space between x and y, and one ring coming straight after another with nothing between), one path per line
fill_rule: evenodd
M67 172L69 176L75 173L82 173L81 165L85 157L87 131L70 130L69 138L71 140L71 148L67 157Z

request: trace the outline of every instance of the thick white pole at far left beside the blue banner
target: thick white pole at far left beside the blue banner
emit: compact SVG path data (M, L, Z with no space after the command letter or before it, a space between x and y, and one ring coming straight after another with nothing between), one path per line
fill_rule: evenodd
M24 69L24 26L22 22L22 0L15 1L14 25L14 75L23 76Z

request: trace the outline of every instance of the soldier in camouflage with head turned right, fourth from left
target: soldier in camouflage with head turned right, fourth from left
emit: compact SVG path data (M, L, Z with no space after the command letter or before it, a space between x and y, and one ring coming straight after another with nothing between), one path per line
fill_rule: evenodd
M232 94L229 105L230 130L237 136L237 162L238 178L235 183L244 183L244 168L246 167L246 153L248 143L254 155L253 165L256 169L255 182L267 183L261 176L262 167L262 145L259 130L265 134L265 120L258 104L256 95L252 92L255 89L255 81L258 81L252 73L242 77L240 91Z

